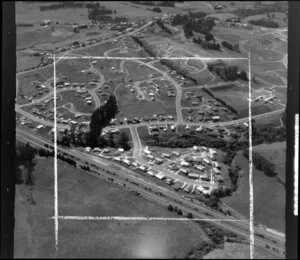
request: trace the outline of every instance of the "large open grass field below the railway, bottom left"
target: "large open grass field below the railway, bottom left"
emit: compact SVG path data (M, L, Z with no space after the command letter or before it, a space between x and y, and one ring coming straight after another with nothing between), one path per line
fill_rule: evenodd
M17 186L14 257L52 258L54 248L53 158L38 159L31 191ZM139 198L66 163L58 161L60 215L175 217ZM74 206L76 205L76 206ZM184 257L207 240L193 222L59 221L59 257ZM155 249L155 250L154 250Z

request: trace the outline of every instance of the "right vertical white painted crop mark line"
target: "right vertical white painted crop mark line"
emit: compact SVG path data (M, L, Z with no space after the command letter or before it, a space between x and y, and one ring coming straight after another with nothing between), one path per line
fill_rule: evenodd
M254 215L253 215L253 165L252 165L252 113L251 113L251 54L249 52L249 220L250 220L250 259L254 257Z

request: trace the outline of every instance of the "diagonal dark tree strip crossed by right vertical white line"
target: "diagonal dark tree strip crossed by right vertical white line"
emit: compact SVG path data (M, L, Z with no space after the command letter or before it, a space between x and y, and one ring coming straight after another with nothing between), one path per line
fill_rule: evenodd
M243 151L244 157L249 159L249 149ZM269 177L275 177L277 173L275 172L274 164L263 157L261 154L252 151L252 161L255 168L259 171L264 172L265 175Z

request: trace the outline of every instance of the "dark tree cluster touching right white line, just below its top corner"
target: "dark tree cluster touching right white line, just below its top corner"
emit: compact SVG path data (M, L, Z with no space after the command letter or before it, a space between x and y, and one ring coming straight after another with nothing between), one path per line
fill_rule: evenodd
M237 79L242 79L244 81L249 80L246 71L242 70L238 72L237 66L215 66L209 64L207 68L209 71L214 72L224 81L235 81Z

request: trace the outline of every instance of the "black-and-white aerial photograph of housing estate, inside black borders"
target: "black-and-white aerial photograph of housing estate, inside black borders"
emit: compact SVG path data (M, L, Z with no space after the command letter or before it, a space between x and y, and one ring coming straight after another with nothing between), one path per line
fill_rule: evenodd
M287 1L16 1L14 258L286 259Z

